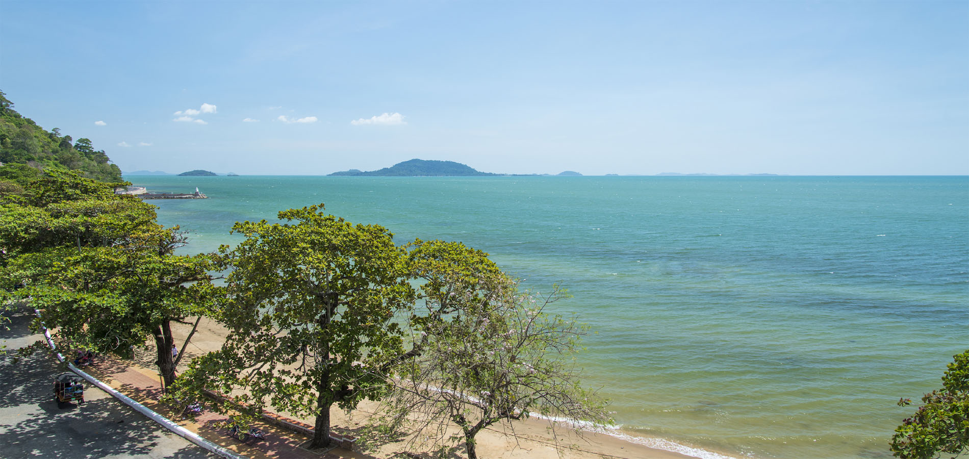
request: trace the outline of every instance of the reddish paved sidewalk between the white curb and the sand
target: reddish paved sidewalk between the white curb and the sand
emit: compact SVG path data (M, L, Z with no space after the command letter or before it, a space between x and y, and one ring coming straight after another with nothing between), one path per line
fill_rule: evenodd
M266 432L265 440L244 444L230 437L225 427L220 427L227 420L226 415L206 411L196 416L195 420L189 421L181 419L180 413L173 413L172 408L160 403L162 385L156 371L111 355L99 355L93 364L83 369L91 376L137 400L146 408L172 419L205 440L252 459L372 459L372 456L339 447L322 455L310 452L299 447L299 444L309 441L308 437L265 422L254 424L254 427Z

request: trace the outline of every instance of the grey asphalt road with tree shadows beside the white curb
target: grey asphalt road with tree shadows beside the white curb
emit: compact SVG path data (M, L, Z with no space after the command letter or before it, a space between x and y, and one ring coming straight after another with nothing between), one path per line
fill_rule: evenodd
M8 350L42 340L31 335L31 316L10 316L10 330L0 327L0 345ZM101 389L84 383L80 406L58 409L51 376L65 371L45 352L16 361L0 356L0 457L214 459Z

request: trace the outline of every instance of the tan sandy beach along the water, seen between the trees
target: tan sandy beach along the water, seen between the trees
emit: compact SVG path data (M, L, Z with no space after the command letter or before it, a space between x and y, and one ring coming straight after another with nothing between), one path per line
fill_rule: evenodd
M172 323L178 348L191 330L190 324ZM185 349L186 355L179 365L184 370L192 357L204 352L218 350L222 346L226 330L220 324L203 319L199 329L192 337L192 341ZM153 345L151 345L153 346ZM151 367L154 360L154 350L149 346L136 352L140 363ZM336 432L359 437L361 452L375 458L391 458L402 454L420 454L420 444L414 442L413 436L390 441L378 434L367 435L368 420L378 413L379 407L375 402L365 401L357 410L346 413L333 409L331 413L332 428ZM286 413L281 413L286 414ZM304 422L313 423L312 418L301 418ZM454 430L457 432L456 428ZM557 439L556 439L557 437ZM530 418L514 423L495 424L477 436L478 455L482 458L534 458L534 459L595 459L595 458L642 458L642 459L672 459L689 458L676 452L652 448L641 444L634 444L625 440L593 432L583 432L578 435L565 425L557 425L552 429L550 421ZM463 444L456 444L452 448L453 457L464 457Z

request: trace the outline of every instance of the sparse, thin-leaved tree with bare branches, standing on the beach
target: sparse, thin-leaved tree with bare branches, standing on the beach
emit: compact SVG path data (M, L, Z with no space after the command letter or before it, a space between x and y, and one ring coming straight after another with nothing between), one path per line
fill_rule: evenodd
M609 422L605 402L579 385L572 360L587 329L545 312L558 291L536 302L514 282L493 278L472 291L453 314L416 322L420 352L398 366L384 399L392 425L410 427L416 441L429 439L424 449L463 440L475 459L475 437L497 422L533 413ZM450 435L451 425L461 434Z

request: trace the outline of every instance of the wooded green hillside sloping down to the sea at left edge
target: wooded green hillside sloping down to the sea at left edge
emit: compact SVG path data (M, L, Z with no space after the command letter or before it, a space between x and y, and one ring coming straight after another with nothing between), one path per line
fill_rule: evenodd
M82 176L106 182L120 182L121 169L110 164L104 150L95 150L88 138L74 140L60 130L47 131L14 109L0 92L0 163L32 168L66 168Z

